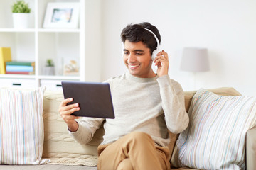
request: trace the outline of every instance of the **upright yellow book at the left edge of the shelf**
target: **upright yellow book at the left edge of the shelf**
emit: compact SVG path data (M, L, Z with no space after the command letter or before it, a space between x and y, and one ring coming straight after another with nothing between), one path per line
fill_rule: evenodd
M6 62L11 62L11 48L0 47L0 74L6 73Z

